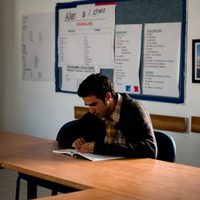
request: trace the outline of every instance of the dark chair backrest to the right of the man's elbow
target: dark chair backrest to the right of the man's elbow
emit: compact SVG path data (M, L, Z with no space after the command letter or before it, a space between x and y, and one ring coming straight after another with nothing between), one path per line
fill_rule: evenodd
M176 160L176 144L174 139L163 132L154 131L157 146L158 146L158 160L164 160L168 162L175 162Z

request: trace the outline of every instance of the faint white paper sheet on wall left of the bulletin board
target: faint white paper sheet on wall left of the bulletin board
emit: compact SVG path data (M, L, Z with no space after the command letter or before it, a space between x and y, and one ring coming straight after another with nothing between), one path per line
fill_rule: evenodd
M22 16L23 80L54 80L54 18L54 12Z

